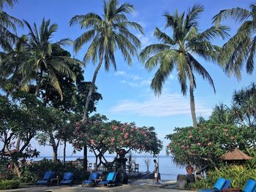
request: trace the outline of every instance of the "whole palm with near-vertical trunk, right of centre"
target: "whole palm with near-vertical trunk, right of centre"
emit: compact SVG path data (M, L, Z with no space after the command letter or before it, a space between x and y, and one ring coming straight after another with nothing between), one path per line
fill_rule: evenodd
M188 10L187 15L185 15L185 12L178 15L177 10L174 15L165 13L165 28L172 29L173 37L156 28L154 36L157 37L160 43L149 45L140 53L140 58L142 58L148 71L159 65L159 69L157 69L151 81L151 88L156 94L162 93L162 86L165 80L175 68L178 72L177 77L181 85L181 93L184 96L187 94L187 79L189 80L190 108L195 128L197 127L194 99L194 89L196 88L195 72L200 74L204 80L208 80L212 88L214 88L214 82L194 55L199 55L206 61L215 61L219 47L212 45L210 40L219 36L225 38L227 35L227 27L225 26L219 26L219 28L211 27L201 33L198 32L197 19L203 10L202 5L195 4L192 9Z

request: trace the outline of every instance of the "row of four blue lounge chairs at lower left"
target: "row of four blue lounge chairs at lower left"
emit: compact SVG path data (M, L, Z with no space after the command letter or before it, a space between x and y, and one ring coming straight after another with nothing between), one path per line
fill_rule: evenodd
M84 180L82 186L84 185L115 185L116 184L116 172L108 173L108 177L106 180L99 179L99 174L97 172L93 172L89 176L89 180ZM45 172L42 180L38 180L36 185L50 185L51 180L56 176L54 172ZM64 173L63 179L59 183L59 185L70 185L72 186L74 174L72 172ZM99 181L97 183L97 181Z

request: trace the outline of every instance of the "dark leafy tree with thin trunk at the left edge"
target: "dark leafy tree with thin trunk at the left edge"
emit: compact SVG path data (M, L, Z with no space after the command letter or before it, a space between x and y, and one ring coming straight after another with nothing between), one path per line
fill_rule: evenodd
M42 117L45 115L40 103L34 95L26 92L16 92L12 101L0 96L0 140L3 142L1 154L10 153L15 172L20 177L18 158L37 155L36 149L31 149L31 139L45 126ZM18 139L17 139L18 138ZM17 153L11 153L15 149Z

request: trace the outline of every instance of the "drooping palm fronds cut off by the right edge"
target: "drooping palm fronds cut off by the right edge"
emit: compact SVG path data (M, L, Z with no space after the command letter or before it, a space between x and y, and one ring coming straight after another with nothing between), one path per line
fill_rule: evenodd
M223 45L220 55L225 72L229 75L234 74L240 80L241 68L244 64L249 74L252 74L255 66L256 5L251 4L249 9L237 7L220 11L214 16L214 23L217 27L223 18L233 18L241 22L236 34Z

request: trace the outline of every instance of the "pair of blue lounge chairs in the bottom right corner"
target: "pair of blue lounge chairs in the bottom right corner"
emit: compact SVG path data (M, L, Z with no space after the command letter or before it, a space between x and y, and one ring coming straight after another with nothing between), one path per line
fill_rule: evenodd
M232 180L225 180L224 178L219 178L213 188L201 189L199 192L256 192L256 180L247 180L243 190L229 188L231 182Z

